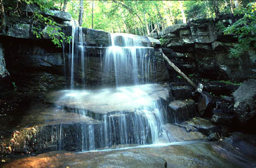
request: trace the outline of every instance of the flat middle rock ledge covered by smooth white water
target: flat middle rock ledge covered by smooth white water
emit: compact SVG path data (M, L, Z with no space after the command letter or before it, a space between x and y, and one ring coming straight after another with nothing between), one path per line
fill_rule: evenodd
M48 103L94 113L135 112L143 106L154 106L162 98L167 100L168 90L159 84L145 84L98 90L62 90L46 95Z

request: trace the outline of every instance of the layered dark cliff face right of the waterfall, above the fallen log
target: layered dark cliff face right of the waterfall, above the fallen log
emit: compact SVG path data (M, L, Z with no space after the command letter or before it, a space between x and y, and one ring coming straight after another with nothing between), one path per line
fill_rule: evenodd
M256 52L229 58L229 49L237 43L232 35L219 28L236 20L233 17L199 19L187 24L166 27L161 38L163 52L183 72L209 80L243 81L256 78Z

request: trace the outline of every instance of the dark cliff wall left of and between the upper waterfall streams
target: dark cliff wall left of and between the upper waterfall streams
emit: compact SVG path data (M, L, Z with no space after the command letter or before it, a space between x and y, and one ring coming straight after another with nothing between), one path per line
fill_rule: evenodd
M37 6L32 7L37 8ZM22 91L47 91L69 85L69 72L64 73L70 65L69 44L65 45L63 55L63 49L56 48L48 35L43 35L41 39L36 38L31 33L32 24L28 19L32 15L31 11L26 8L21 10L27 15L24 14L20 18L6 15L6 29L0 32L0 90L5 90L9 86L9 88L17 87ZM54 13L52 17L62 27L62 31L71 36L73 20L70 14L59 10L52 10L52 13ZM110 35L105 31L83 28L83 37L88 58L86 84L101 85L102 58L106 47L111 46ZM160 42L150 37L135 38L144 46L155 48L152 55L156 60L154 65L157 69L156 76L159 76L155 82L168 80L168 72L159 51ZM120 38L117 42L122 46L124 41ZM76 82L79 86L79 80Z

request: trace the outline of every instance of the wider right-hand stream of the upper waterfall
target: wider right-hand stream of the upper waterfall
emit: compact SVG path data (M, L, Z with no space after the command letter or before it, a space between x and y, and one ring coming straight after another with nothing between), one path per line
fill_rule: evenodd
M113 72L117 87L148 83L154 48L142 47L141 41L131 34L115 33L110 38L111 47L106 49L104 57L104 83L109 83Z

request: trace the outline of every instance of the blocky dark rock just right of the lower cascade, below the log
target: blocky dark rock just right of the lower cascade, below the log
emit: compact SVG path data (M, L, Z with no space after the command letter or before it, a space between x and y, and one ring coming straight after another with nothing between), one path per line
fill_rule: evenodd
M175 123L198 115L195 113L195 103L191 99L186 99L184 101L172 101L169 104L169 109L170 116L173 118L172 121Z

